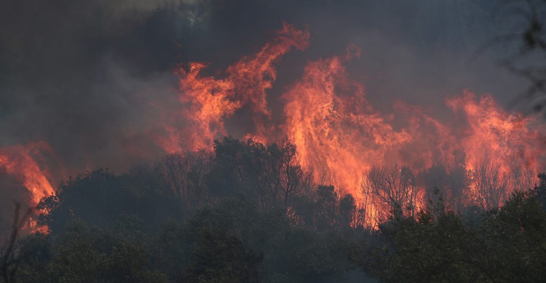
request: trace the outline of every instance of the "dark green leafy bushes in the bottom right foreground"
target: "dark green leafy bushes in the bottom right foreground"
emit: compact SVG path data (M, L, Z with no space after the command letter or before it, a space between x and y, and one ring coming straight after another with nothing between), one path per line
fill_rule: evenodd
M417 219L393 219L355 248L353 260L385 282L544 281L541 190L515 192L476 222L442 207Z

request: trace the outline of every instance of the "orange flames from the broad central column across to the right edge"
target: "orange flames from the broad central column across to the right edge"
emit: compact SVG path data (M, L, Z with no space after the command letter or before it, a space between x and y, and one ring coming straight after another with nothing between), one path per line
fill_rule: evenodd
M477 98L465 92L446 99L455 115L449 123L429 117L420 107L396 103L395 109L407 122L396 131L390 117L366 101L364 86L348 78L342 64L347 58L307 65L300 82L283 95L282 128L304 165L315 168L317 179L327 173L338 188L365 194L370 217L380 221L384 217L378 214L388 214L377 195L364 189L373 166L401 164L417 174L434 164L444 164L448 170L462 165L470 170L472 180L480 180L470 184L468 201L486 209L498 207L515 188L533 186L531 176L543 170L546 153L546 131L535 118L508 113L490 95ZM483 168L498 168L500 174L476 170L484 162L488 165ZM478 179L479 174L486 176ZM419 184L413 182L406 188L412 191L410 199L401 204L424 208L426 196L414 192Z

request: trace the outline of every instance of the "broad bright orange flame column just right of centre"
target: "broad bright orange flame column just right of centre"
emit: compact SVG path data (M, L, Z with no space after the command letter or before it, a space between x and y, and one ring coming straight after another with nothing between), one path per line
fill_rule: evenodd
M412 137L405 130L394 131L372 109L364 87L347 79L346 58L307 65L302 80L282 97L282 127L304 164L317 167L317 174L327 171L337 186L355 192L364 172L388 160L393 149Z

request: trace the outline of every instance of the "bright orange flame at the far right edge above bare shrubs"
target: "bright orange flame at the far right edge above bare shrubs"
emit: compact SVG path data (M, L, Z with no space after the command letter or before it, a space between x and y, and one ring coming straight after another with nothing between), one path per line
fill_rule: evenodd
M541 169L544 162L544 125L533 117L508 113L490 95L477 98L465 92L447 99L446 104L467 122L460 144L466 165L474 168L483 161L501 166L503 172L523 168Z

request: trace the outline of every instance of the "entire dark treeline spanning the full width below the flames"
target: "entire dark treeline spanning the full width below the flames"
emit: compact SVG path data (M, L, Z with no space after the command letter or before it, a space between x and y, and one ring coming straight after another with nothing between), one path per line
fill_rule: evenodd
M514 194L489 207L455 194L475 176L456 168L376 167L362 187L369 199L361 199L314 180L288 142L226 137L213 153L171 154L123 174L98 168L63 182L38 207L50 233L4 249L0 275L8 282L546 279L546 176L525 191L503 183ZM498 176L492 169L483 170ZM411 202L418 199L426 201ZM366 211L371 201L381 214Z

